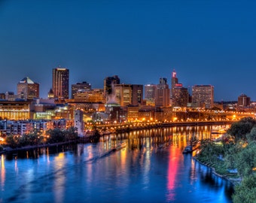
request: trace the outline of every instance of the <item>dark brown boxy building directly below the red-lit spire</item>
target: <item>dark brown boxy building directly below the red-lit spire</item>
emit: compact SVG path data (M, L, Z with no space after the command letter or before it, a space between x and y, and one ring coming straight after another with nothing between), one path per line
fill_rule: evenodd
M188 91L187 88L182 86L175 86L172 89L172 106L173 107L187 107L188 103Z

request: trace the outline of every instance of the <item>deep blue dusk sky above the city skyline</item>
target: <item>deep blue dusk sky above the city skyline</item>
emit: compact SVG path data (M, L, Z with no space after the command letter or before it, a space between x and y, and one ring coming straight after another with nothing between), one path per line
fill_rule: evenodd
M256 100L255 1L0 0L0 92L19 80L40 83L69 68L70 84L212 84L215 101Z

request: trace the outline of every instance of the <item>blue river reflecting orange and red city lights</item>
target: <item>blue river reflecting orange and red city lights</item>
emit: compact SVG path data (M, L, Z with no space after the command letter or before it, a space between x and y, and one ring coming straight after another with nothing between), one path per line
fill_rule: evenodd
M105 135L1 156L0 202L232 202L233 186L182 154L212 126ZM112 150L119 141L126 147Z

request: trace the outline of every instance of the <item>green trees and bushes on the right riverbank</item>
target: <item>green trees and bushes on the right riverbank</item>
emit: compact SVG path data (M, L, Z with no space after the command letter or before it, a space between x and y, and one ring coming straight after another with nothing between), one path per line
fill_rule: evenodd
M256 202L256 120L242 118L220 141L203 140L200 144L193 159L233 183L233 202Z

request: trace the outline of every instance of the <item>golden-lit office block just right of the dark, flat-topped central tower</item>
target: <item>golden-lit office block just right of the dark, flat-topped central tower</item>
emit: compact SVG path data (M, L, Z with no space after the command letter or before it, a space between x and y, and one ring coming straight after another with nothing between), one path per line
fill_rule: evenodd
M115 101L120 106L132 104L132 86L130 84L115 84L114 95Z

